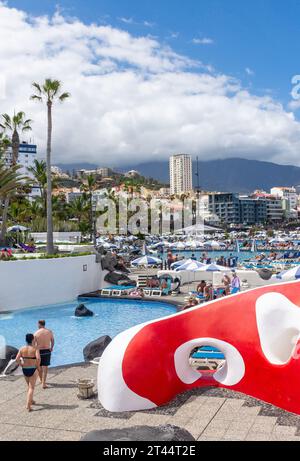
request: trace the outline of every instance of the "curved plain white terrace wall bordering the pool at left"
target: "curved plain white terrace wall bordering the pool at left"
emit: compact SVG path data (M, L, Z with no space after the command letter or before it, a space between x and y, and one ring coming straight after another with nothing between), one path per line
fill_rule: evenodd
M0 312L72 301L101 287L96 257L0 262Z

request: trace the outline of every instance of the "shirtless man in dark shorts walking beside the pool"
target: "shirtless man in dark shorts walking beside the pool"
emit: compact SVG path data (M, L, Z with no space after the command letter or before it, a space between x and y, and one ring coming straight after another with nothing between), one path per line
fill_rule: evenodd
M54 348L54 336L51 330L45 328L45 320L39 320L38 327L39 329L34 334L35 346L40 351L41 363L39 376L43 386L43 389L47 389L47 374L48 367L51 361L51 352Z

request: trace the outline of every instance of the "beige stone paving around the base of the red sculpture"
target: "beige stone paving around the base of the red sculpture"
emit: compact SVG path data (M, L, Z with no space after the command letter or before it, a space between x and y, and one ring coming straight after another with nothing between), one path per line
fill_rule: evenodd
M0 441L76 441L91 430L173 424L199 441L300 441L300 417L241 394L198 389L150 411L109 413L97 398L80 400L79 378L96 381L95 365L51 369L50 388L40 385L36 405L25 409L23 377L0 379Z

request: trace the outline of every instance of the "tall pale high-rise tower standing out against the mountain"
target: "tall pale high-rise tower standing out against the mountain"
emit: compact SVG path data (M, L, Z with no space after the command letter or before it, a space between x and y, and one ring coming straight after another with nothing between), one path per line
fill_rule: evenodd
M170 157L171 194L183 194L193 190L192 157L178 154Z

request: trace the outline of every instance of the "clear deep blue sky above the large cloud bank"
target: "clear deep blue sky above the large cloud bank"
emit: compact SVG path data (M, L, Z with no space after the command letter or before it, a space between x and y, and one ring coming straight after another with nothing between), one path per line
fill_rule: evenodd
M38 15L53 13L56 3L8 1L9 6ZM137 36L154 35L178 53L239 78L253 93L271 91L283 104L290 99L292 76L300 73L298 0L61 0L58 4L64 14L84 22L106 22ZM213 43L193 43L206 38Z

